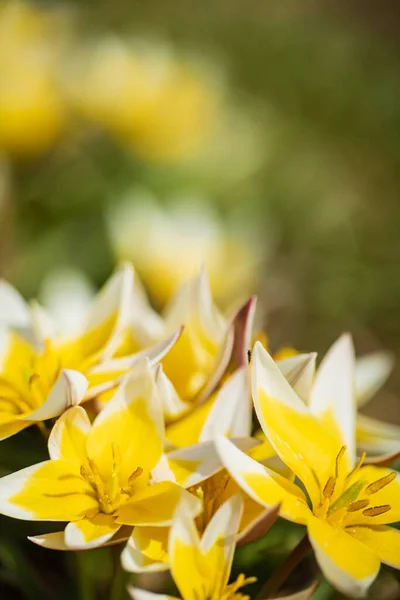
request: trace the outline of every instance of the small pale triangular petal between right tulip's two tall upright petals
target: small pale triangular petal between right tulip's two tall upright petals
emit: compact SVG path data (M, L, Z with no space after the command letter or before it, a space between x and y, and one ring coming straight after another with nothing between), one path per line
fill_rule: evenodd
M297 354L290 358L278 360L277 365L296 394L308 404L315 376L317 355Z

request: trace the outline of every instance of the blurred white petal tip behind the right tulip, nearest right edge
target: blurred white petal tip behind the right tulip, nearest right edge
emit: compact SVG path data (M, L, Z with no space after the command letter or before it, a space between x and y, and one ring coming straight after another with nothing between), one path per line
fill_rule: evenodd
M364 406L384 385L394 366L390 352L374 352L357 358L356 398L358 406Z

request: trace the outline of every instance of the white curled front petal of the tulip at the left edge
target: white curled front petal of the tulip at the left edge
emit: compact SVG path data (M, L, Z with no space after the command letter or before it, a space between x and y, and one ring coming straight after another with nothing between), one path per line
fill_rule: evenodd
M82 373L64 369L51 388L44 404L34 412L20 418L27 421L45 421L58 417L67 408L76 406L82 401L87 386L88 381Z

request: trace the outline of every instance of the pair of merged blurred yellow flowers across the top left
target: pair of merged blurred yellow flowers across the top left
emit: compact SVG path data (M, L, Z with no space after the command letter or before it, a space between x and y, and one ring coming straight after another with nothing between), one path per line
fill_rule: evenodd
M186 161L215 134L222 85L166 44L77 39L72 14L0 9L0 149L39 154L85 119L142 159Z

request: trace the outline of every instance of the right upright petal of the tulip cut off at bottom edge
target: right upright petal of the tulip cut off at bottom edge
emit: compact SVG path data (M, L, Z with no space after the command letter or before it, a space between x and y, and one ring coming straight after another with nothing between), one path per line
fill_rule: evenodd
M212 557L209 577L214 593L221 593L228 583L242 512L240 495L229 498L213 515L201 538L201 550Z

